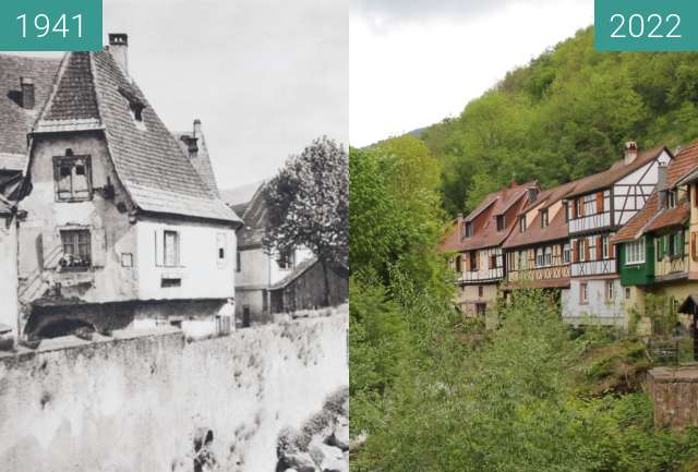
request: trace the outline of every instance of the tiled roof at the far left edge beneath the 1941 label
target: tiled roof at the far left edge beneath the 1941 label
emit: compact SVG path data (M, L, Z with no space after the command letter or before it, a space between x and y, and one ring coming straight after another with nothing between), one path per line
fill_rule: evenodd
M39 59L0 55L0 156L5 160L26 156L26 135L31 131L38 110L48 99L60 64L56 59ZM34 81L34 110L21 107L20 78ZM22 167L23 169L23 167Z

